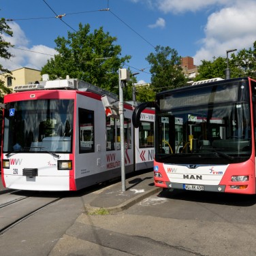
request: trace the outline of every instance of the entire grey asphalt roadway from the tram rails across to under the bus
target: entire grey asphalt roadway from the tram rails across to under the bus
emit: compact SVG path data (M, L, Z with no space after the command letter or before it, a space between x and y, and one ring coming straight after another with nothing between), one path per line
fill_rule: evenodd
M8 255L256 255L256 197L161 192L123 212L89 215L99 191L51 204L0 236Z

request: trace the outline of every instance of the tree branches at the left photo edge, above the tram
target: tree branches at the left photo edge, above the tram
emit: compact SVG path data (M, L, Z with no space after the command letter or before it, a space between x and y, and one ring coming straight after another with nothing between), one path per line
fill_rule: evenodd
M13 32L11 28L7 25L4 18L0 19L0 58L1 59L10 59L12 57L12 54L8 51L10 47L12 47L12 44L10 42L6 42L3 38L3 34L12 36ZM6 74L6 76L11 76L12 72L6 68L3 67L3 65L0 64L0 72L1 74ZM3 96L7 93L11 93L12 90L7 88L4 85L4 82L0 80L0 101L3 102Z

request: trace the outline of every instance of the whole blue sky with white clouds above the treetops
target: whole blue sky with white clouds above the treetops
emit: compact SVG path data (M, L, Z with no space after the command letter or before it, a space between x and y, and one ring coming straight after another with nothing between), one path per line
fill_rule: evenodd
M195 65L226 57L227 50L253 48L255 14L255 0L5 0L0 17L11 19L7 24L14 34L3 38L15 48L9 50L14 57L0 58L0 63L10 70L40 70L57 53L54 39L67 38L81 22L91 32L103 27L116 37L122 56L131 55L124 68L139 73L138 83L147 83L151 76L146 57L155 53L155 46L193 57Z

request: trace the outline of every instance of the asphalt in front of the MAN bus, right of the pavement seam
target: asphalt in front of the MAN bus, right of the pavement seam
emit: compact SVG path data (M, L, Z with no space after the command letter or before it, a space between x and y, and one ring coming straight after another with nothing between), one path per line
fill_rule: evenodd
M255 256L255 198L174 191L116 214L81 214L50 256Z

